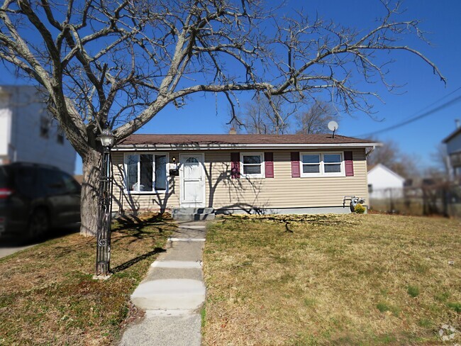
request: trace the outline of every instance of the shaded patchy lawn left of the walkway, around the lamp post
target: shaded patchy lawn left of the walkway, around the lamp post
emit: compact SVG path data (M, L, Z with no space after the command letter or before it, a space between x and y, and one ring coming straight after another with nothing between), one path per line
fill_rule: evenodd
M173 223L155 216L113 225L109 280L92 279L94 238L79 234L0 259L0 345L110 345L130 294L164 251Z

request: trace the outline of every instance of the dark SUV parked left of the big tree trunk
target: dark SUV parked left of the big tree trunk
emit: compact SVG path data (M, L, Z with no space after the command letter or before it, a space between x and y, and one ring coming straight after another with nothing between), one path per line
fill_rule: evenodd
M16 162L0 165L0 239L40 238L80 221L81 187L60 169Z

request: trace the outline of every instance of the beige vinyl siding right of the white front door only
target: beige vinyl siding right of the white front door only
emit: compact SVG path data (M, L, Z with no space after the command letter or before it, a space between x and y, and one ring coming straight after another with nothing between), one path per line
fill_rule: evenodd
M338 149L322 150L327 151ZM273 152L274 178L263 179L219 179L219 172L230 167L230 151L206 152L206 170L210 172L212 164L211 185L215 186L210 189L207 184L206 197L213 201L213 208L342 206L344 196L367 198L365 149L352 150L354 177L291 178L290 151ZM221 181L217 182L218 179Z

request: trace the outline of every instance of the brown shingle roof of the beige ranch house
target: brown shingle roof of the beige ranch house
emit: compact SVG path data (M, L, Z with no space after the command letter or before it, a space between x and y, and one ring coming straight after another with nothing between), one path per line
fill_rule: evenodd
M130 135L120 145L191 145L191 144L352 144L370 140L331 134L321 135Z

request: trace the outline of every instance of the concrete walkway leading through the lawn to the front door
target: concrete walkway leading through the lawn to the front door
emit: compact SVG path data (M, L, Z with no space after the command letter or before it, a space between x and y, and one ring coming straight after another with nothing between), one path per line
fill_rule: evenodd
M200 346L200 308L205 300L201 271L205 222L180 223L148 276L131 295L145 318L123 333L121 346Z

